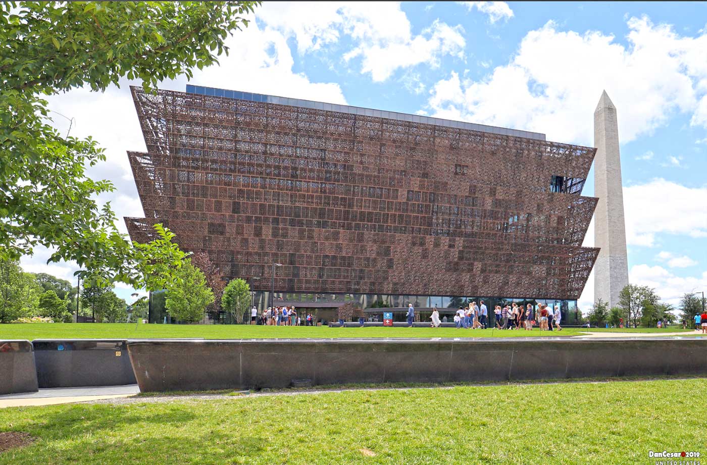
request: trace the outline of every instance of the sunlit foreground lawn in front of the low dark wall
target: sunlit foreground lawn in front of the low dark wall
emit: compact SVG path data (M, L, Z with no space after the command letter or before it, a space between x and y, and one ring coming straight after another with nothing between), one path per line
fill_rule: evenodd
M699 451L707 379L6 408L0 464L642 464Z

